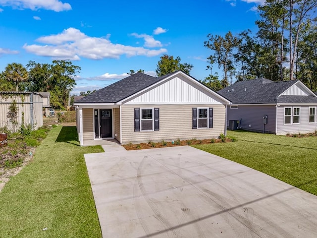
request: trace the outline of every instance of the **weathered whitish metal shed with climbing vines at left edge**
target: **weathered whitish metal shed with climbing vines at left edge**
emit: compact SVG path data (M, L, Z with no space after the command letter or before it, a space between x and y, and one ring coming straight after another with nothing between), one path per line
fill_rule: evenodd
M16 102L17 116L10 121L10 106ZM16 131L22 124L30 124L32 129L43 126L43 99L35 92L0 92L0 127L7 126Z

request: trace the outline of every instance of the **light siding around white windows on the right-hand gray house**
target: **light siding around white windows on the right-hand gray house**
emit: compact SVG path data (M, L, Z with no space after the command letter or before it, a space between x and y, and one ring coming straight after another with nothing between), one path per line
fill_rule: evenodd
M309 108L317 107L317 105L283 105L277 108L277 135L299 134L315 132L317 130L317 123L309 123ZM284 124L285 108L300 108L300 123L298 124ZM293 113L293 110L292 110Z

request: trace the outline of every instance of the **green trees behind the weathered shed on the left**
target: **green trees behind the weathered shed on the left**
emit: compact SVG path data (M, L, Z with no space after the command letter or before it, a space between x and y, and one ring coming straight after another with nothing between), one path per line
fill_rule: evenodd
M0 91L50 92L51 106L65 109L80 70L68 60L53 60L52 64L29 61L26 67L9 63L0 73Z

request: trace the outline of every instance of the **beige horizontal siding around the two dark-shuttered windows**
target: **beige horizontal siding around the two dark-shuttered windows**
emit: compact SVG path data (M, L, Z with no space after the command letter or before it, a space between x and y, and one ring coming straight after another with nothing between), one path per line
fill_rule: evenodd
M193 108L213 108L213 128L192 128ZM158 131L134 131L134 108L159 108ZM209 139L224 133L224 105L122 105L122 144L148 141Z

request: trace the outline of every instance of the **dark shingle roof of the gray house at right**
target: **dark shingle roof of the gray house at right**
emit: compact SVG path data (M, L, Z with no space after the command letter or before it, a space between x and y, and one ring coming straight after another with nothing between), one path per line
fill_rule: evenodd
M280 96L297 80L273 82L265 78L239 81L217 91L233 104L256 103L317 103L314 96Z

